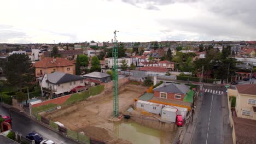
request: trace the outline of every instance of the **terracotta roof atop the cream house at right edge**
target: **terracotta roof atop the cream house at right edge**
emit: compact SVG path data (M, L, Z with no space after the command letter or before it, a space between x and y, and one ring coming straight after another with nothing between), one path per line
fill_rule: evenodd
M238 93L256 95L256 83L255 84L237 85L236 89L237 89Z

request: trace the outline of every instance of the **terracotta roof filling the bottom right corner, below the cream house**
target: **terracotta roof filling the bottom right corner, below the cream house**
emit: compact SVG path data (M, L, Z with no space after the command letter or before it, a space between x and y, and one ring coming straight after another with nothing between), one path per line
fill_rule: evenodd
M256 141L256 121L247 118L233 117L236 143L253 144Z

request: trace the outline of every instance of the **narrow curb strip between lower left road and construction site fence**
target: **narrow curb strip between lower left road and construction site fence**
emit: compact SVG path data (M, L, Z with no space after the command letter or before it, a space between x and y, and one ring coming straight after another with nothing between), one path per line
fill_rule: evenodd
M3 106L3 105L1 105L1 106ZM44 124L44 123L42 123L42 122L37 121L36 118L33 118L33 117L31 117L31 116L28 116L28 115L26 115L24 112L20 112L20 110L14 108L14 107L9 107L9 108L6 107L6 106L3 106L3 107L9 109L10 111L15 111L15 112L19 113L20 115L25 116L25 117L31 119L32 121L34 121L34 122L36 122L36 123L42 125L42 126L45 127L45 128L48 128L48 129L51 130L51 131L54 131L54 132L57 133L57 134L60 134L60 135L62 135L62 136L65 136L65 137L66 137L67 139L69 139L69 140L72 140L72 141L74 141L74 142L80 143L80 142L78 142L78 141L76 141L76 140L74 140L74 139L71 139L70 137L68 137L68 136L66 136L66 135L64 135L64 134L62 134L62 133L60 133L59 131L57 131L57 130L51 128L51 127L49 127L49 125L46 125L46 124Z

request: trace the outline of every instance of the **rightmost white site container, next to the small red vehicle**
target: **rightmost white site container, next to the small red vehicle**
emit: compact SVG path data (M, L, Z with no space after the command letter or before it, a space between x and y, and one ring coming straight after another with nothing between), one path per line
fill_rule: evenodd
M161 114L161 119L164 121L169 121L169 122L176 122L176 116L177 116L177 109L176 108L171 108L171 107L164 107L162 108L162 114Z

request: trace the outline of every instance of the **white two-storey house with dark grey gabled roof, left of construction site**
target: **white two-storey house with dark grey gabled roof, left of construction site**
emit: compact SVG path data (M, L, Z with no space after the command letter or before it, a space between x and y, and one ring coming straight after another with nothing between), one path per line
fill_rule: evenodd
M56 71L38 78L42 95L59 97L86 89L84 77Z

